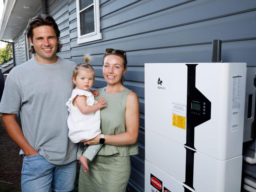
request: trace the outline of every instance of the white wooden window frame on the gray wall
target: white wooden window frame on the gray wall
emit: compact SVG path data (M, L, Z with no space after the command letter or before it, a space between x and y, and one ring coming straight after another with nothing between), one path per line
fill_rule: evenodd
M100 33L100 2L99 2L99 0L93 0L93 3L91 5L85 7L81 11L80 11L80 7L79 7L80 6L79 1L83 1L83 0L76 0L76 4L77 4L77 44L102 39L101 33ZM80 13L83 10L91 7L92 5L93 5L93 10L94 10L94 32L88 33L85 35L81 35Z

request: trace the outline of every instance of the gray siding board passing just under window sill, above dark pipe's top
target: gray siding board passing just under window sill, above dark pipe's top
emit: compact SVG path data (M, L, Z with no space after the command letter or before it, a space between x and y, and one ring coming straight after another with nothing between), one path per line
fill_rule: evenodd
M254 31L256 31L256 25L252 25L253 22L255 22L255 14L256 11L247 12L218 18L214 20L214 23L213 21L205 21L189 26L179 26L176 28L144 33L137 36L104 41L98 44L87 45L84 49L81 49L81 47L75 47L71 49L71 55L81 56L84 52L88 51L92 54L99 54L99 51L102 52L106 47L117 47L120 49L123 47L123 50L129 51L209 44L213 39L221 39L224 42L251 38L255 39ZM203 34L202 31L204 31ZM230 34L232 34L232 37ZM71 48L75 44L76 42L71 40ZM138 45L140 45L139 49Z

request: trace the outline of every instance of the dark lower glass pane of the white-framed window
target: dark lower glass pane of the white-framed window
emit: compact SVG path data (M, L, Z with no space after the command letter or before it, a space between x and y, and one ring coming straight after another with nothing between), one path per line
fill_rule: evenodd
M81 35L94 32L94 12L93 6L80 13Z

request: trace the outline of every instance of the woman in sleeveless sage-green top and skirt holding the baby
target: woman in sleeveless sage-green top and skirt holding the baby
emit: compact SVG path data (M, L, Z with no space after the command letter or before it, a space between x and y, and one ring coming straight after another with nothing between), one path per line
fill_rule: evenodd
M106 49L103 56L103 76L108 83L98 89L106 98L107 106L101 109L101 132L91 140L81 141L95 145L104 142L92 162L89 172L80 169L79 192L124 192L131 173L130 155L138 154L139 101L137 95L123 86L127 70L123 50Z

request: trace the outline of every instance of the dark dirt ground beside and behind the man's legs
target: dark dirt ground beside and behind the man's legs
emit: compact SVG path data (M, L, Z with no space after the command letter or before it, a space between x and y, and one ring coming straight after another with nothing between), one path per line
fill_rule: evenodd
M16 121L21 127L20 116ZM0 113L0 192L21 192L22 157L19 156L20 148L14 143L4 130L2 114ZM77 166L77 178L75 188L78 191L79 168Z

